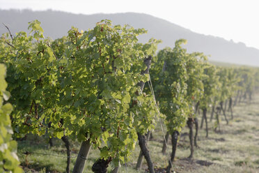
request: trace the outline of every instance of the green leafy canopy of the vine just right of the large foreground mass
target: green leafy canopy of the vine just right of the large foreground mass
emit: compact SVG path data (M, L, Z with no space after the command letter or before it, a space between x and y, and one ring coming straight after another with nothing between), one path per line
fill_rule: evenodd
M166 115L166 126L171 132L180 131L185 126L190 113L187 94L191 95L189 98L193 97L195 93L192 91L195 89L191 89L191 85L188 88L188 82L195 82L197 87L201 84L188 75L188 73L190 76L196 73L191 62L198 61L194 57L201 54L188 54L187 50L180 46L186 42L186 40L178 40L173 50L169 47L160 50L151 73L159 109Z

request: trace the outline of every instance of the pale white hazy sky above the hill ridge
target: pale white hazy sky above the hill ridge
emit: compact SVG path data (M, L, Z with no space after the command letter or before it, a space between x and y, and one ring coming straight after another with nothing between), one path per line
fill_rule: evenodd
M191 31L259 49L259 0L0 0L0 8L82 14L146 13Z

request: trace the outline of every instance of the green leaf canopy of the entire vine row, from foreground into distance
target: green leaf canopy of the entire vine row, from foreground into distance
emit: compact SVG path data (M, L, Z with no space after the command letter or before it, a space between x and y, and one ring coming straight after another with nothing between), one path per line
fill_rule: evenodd
M134 149L136 133L154 128L159 115L152 91L140 87L150 80L143 75L144 61L154 57L159 41L141 44L137 36L146 30L113 26L109 20L88 31L72 27L56 40L43 36L38 20L29 23L29 30L29 35L0 38L0 63L6 64L10 91L1 83L1 103L11 95L15 135L48 132L50 137L90 140L100 157L123 163ZM216 68L202 53L187 53L181 47L186 42L177 40L173 49L160 50L150 69L157 105L171 132L185 126L198 101L207 108L238 89L251 96L259 83L253 77L258 70ZM10 114L11 106L2 109Z

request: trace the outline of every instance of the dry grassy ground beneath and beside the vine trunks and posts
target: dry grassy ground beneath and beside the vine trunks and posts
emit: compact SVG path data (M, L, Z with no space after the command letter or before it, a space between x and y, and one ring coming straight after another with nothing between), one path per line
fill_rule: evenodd
M214 133L214 121L209 122L209 137L205 137L205 130L199 129L198 148L195 148L194 158L187 159L190 154L189 130L184 128L178 142L176 159L172 172L259 172L259 95L249 103L240 103L234 107L234 119L228 126L221 115L221 132ZM201 116L201 115L200 115ZM210 113L208 114L210 116ZM227 114L230 119L230 114ZM201 119L199 117L199 122ZM194 131L195 132L195 131ZM157 126L152 133L153 139L148 143L151 157L156 168L164 168L168 165L171 152L169 146L166 155L162 155L162 130ZM51 149L44 137L28 136L25 141L18 142L18 156L25 172L65 172L66 158L63 142L54 139L55 146ZM79 143L72 144L72 156L76 156ZM28 156L23 152L34 152ZM52 154L43 155L42 153ZM58 156L53 156L58 155ZM92 150L88 157L84 172L91 172L91 166L98 156L97 150ZM134 170L139 156L139 146L132 153L130 162L120 168L119 172L146 172L147 165L143 162L141 171ZM71 158L73 167L76 158ZM72 170L72 168L71 168ZM160 171L162 172L162 171Z

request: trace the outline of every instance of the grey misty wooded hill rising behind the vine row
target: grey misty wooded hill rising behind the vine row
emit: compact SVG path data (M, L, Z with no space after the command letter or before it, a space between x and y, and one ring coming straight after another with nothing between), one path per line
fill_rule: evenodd
M27 31L28 22L39 20L44 29L44 35L53 39L66 36L68 30L74 26L82 30L93 29L100 20L108 19L113 24L130 24L134 28L144 28L147 34L139 37L146 43L150 38L161 39L163 42L158 48L174 47L175 40L185 38L188 40L188 52L203 52L211 55L209 60L228 63L259 66L259 50L246 47L244 43L233 43L215 36L205 36L189 29L178 26L166 20L142 13L116 13L76 15L54 10L0 10L0 22L6 24L14 34L18 31ZM6 33L1 25L0 34Z

